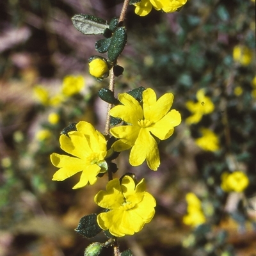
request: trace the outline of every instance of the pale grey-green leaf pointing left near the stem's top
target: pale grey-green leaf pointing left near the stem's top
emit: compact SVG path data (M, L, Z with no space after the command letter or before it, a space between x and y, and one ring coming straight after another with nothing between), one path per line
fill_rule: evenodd
M106 20L93 15L77 14L71 20L74 27L84 35L102 35L109 27Z

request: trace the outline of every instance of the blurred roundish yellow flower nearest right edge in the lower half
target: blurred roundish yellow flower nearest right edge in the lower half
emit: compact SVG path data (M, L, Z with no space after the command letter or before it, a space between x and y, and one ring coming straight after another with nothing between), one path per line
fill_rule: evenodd
M243 172L223 173L221 175L221 188L225 192L242 192L249 185L249 179Z

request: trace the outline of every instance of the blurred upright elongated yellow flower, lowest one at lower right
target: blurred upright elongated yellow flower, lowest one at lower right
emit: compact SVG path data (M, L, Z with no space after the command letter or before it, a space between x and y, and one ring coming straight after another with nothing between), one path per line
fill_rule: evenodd
M186 201L188 204L188 213L183 217L183 223L193 227L205 223L204 212L202 212L201 201L198 197L194 193L188 193L186 195Z

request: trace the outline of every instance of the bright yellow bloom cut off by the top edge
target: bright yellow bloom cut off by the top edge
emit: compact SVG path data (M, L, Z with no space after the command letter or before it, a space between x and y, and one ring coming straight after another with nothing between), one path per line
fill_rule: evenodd
M141 0L140 3L134 4L135 13L140 16L148 15L152 7L157 11L163 10L166 13L175 12L178 8L187 3L187 0Z

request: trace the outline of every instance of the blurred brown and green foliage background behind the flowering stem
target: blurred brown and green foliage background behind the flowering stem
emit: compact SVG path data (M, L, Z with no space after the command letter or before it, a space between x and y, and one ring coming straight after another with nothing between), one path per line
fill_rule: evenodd
M109 21L120 15L122 3L0 3L1 255L78 256L92 241L106 241L103 234L85 239L74 228L84 215L100 211L93 197L108 177L73 190L79 175L52 181L56 168L49 155L61 154L60 132L70 123L86 120L104 132L107 105L97 92L108 79L99 83L88 74L88 58L100 55L94 45L102 36L83 35L71 17L84 13ZM145 177L157 200L152 222L119 239L120 247L136 256L256 255L255 1L190 0L180 12L152 10L146 17L129 6L125 22L128 42L118 58L124 74L116 78L116 93L138 86L154 88L159 97L172 92L182 124L159 144L157 172L147 164L131 168L129 152L116 159L114 176ZM82 77L83 88L63 96L67 76ZM201 88L214 111L188 124L186 102L196 102ZM216 134L218 150L196 144L202 127ZM236 170L250 183L242 193L227 193L221 175ZM183 222L191 192L206 219L197 228ZM102 255L113 255L111 250Z

